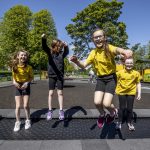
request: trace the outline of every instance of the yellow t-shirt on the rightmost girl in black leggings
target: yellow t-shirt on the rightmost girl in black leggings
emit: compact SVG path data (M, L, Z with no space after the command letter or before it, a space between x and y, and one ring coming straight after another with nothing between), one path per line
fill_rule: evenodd
M125 69L117 73L116 94L118 95L136 95L136 86L141 80L140 73L135 70L130 72Z

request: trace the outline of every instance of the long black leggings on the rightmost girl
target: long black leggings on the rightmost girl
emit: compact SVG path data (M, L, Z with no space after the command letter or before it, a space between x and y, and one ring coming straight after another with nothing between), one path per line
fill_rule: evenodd
M127 110L127 123L132 122L133 103L135 95L118 95L119 96L119 122L122 122L125 111Z

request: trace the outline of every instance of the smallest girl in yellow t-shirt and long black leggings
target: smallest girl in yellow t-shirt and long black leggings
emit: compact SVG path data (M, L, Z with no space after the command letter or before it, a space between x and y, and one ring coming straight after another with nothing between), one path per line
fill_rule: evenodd
M116 94L119 97L119 121L116 124L116 129L121 129L122 119L125 110L127 109L127 125L129 130L135 130L132 124L133 103L137 93L137 100L141 99L141 77L138 71L133 70L133 59L125 60L125 69L117 73Z

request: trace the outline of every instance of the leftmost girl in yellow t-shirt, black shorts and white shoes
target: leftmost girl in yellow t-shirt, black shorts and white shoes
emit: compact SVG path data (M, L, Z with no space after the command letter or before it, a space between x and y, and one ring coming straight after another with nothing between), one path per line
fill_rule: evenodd
M31 127L30 121L30 108L29 108L29 96L30 96L30 82L33 80L32 67L27 64L28 53L25 50L20 50L15 54L11 62L13 84L16 89L15 101L16 101L16 122L14 132L20 130L20 107L23 101L23 107L26 114L25 129Z

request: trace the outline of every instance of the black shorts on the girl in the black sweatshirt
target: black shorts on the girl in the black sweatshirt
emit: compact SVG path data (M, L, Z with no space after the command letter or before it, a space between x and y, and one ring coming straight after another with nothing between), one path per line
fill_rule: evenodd
M64 79L60 79L57 77L49 77L49 90L54 90L56 86L58 90L63 90Z

